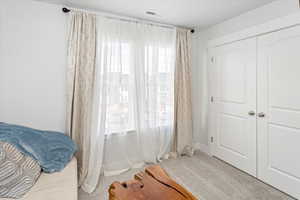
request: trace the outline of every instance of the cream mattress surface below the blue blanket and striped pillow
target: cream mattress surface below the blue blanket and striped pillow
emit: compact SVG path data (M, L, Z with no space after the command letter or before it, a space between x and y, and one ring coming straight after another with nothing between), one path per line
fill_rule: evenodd
M19 200L77 200L76 159L73 158L61 172L42 173L37 183Z

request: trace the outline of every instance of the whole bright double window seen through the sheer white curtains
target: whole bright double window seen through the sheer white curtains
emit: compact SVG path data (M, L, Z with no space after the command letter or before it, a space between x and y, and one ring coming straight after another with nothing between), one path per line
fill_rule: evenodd
M107 70L106 134L136 130L140 121L135 119L150 128L172 126L173 48L145 45L138 54L126 42L102 48L101 64Z

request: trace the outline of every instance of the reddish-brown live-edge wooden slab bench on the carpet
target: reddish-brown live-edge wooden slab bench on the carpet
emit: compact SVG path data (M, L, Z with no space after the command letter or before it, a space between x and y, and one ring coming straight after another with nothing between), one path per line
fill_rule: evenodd
M157 165L124 183L114 182L109 188L109 200L197 200L185 188L172 180Z

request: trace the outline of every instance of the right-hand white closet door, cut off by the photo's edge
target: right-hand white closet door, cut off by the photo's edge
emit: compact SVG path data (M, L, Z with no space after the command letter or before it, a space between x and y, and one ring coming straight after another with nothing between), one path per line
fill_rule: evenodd
M258 178L300 199L300 27L258 39Z

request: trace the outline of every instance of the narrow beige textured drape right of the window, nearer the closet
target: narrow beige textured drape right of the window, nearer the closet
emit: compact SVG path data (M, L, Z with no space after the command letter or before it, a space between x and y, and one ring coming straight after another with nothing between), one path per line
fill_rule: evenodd
M176 31L175 110L173 151L191 155L193 152L193 123L191 100L191 33Z

